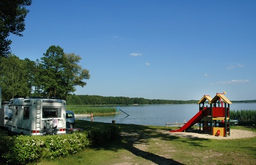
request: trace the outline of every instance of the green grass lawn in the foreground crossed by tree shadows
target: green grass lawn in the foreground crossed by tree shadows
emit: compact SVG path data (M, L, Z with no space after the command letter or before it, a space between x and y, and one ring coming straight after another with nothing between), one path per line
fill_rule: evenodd
M77 120L76 127L90 130L106 123ZM180 138L163 134L157 126L118 124L122 139L76 155L42 160L37 164L255 164L256 137L236 140ZM232 129L255 128L232 127ZM161 131L159 131L161 130Z

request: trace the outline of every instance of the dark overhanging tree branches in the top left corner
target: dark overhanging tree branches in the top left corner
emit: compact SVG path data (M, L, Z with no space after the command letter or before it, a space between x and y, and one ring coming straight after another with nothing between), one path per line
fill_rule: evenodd
M8 39L10 34L22 36L25 30L25 18L29 10L31 0L1 0L0 1L0 57L10 54L12 41Z

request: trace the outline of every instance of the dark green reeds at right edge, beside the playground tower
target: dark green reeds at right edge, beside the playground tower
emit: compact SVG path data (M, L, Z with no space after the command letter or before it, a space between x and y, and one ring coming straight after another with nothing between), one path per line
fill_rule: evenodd
M243 122L255 122L256 110L232 110L230 111L230 118Z

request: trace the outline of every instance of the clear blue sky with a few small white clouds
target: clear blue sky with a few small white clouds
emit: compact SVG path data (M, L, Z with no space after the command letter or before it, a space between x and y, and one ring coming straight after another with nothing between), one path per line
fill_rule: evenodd
M256 1L33 1L12 53L51 45L80 55L91 78L75 94L256 99Z

